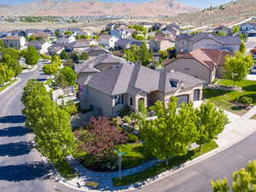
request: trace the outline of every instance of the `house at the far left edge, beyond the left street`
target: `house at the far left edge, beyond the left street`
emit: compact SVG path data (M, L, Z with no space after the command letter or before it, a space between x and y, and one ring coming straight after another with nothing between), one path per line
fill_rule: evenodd
M26 48L26 38L23 36L7 36L3 39L3 43L7 47L16 48L16 49L25 49Z

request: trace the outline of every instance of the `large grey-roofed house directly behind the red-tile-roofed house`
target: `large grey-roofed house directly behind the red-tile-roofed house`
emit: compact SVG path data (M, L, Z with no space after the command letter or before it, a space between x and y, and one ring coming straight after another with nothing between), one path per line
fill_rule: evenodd
M195 49L228 49L236 51L241 44L240 37L215 36L207 32L197 34L182 33L177 36L175 47L177 53L188 53Z

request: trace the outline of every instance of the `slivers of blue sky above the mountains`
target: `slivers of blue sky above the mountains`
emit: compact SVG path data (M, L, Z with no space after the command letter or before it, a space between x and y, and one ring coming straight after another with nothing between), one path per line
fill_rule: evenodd
M0 3L3 4L20 4L20 3L30 3L30 2L35 2L38 0L0 0ZM79 1L79 0L75 0ZM139 3L139 2L146 2L149 0L102 0L104 2L134 2L134 3ZM188 4L193 7L198 7L198 8L208 8L210 6L217 6L223 3L228 3L231 0L178 0L181 3Z

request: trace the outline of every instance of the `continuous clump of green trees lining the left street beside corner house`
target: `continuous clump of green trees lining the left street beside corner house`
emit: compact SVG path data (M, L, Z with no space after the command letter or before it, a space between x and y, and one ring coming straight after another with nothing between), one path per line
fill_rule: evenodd
M70 116L50 99L44 84L29 80L21 101L22 113L26 116L26 127L35 134L36 147L52 162L64 160L76 148Z

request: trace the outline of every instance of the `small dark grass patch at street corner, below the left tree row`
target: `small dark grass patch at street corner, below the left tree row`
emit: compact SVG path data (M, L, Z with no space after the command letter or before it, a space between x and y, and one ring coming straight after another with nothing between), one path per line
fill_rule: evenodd
M62 177L65 177L68 180L79 176L79 173L75 172L73 167L71 167L65 160L55 163L55 168L58 170L58 172L60 172Z

